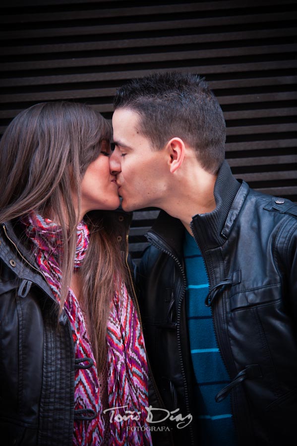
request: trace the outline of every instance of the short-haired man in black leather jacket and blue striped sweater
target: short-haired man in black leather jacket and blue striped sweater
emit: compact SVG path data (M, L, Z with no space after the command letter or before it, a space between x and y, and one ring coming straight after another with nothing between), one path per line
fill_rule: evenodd
M154 444L295 445L297 206L233 177L198 76L133 80L114 105L122 208L162 209L137 277L150 404L172 417Z

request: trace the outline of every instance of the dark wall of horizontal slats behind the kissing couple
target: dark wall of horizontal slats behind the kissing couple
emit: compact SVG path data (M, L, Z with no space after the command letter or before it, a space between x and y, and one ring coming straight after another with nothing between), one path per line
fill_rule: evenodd
M111 119L125 80L191 71L223 108L235 176L297 201L295 0L2 0L0 13L0 133L41 101L85 102ZM135 258L157 214L134 213Z

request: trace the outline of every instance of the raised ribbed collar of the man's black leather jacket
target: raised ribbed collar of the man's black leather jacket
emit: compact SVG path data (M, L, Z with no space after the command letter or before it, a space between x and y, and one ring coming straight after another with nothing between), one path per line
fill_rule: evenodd
M191 229L198 240L200 249L207 250L221 246L226 241L238 215L239 206L244 200L242 194L239 193L242 189L245 198L248 191L247 184L243 182L240 186L225 161L218 172L214 187L216 209L207 214L195 215L191 222ZM237 196L238 200L235 200ZM150 242L157 243L163 250L169 251L178 258L182 257L184 226L180 220L161 211L156 222L145 235Z

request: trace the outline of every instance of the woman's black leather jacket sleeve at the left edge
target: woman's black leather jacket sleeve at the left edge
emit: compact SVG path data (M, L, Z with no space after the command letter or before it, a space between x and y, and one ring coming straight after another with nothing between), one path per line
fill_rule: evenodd
M43 321L28 288L0 261L0 427L7 446L37 441Z

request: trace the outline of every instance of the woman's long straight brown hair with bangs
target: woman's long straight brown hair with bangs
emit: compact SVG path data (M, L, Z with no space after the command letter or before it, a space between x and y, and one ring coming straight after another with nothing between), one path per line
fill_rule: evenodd
M76 249L80 185L84 173L110 141L103 116L82 104L41 103L19 113L0 141L0 222L34 210L61 226L63 255L60 312L68 294ZM73 206L77 196L78 212ZM88 332L101 370L106 359L106 327L113 294L124 274L119 243L104 226L104 212L87 216L90 243L80 269Z

